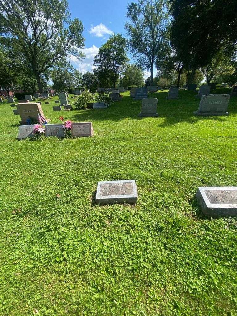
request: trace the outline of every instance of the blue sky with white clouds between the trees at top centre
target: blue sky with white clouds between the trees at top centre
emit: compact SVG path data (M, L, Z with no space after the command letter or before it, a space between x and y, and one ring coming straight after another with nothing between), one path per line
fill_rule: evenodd
M121 33L127 37L124 25L128 0L117 0L116 2L109 0L68 1L71 18L77 17L82 21L85 38L85 47L82 51L86 54L82 63L73 57L70 58L70 61L82 73L92 71L94 56L110 34ZM145 71L145 77L148 77L149 74Z

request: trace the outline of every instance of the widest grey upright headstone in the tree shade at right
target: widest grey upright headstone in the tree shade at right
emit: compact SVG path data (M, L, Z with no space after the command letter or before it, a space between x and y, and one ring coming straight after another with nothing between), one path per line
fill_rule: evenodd
M228 116L227 107L229 104L229 94L209 94L203 95L198 110L193 114L199 116Z

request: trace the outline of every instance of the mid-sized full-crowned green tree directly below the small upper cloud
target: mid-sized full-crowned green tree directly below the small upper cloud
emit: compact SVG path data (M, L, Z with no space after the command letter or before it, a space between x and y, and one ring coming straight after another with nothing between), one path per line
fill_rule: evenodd
M112 80L115 88L116 81L128 62L126 40L121 34L113 34L102 45L94 58L95 70L104 72Z

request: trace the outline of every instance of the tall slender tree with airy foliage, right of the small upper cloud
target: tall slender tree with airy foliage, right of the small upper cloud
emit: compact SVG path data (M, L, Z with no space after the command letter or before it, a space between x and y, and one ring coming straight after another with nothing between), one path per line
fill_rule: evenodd
M167 47L167 9L165 0L138 0L127 7L125 29L130 36L129 46L137 64L150 70L153 84L153 68L156 59L162 59Z

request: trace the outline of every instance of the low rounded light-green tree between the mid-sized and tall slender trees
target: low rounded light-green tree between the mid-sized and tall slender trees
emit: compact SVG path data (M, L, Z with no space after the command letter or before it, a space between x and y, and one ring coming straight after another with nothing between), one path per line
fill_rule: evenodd
M142 69L135 64L128 64L120 84L125 88L134 85L142 87L144 84L144 73Z

